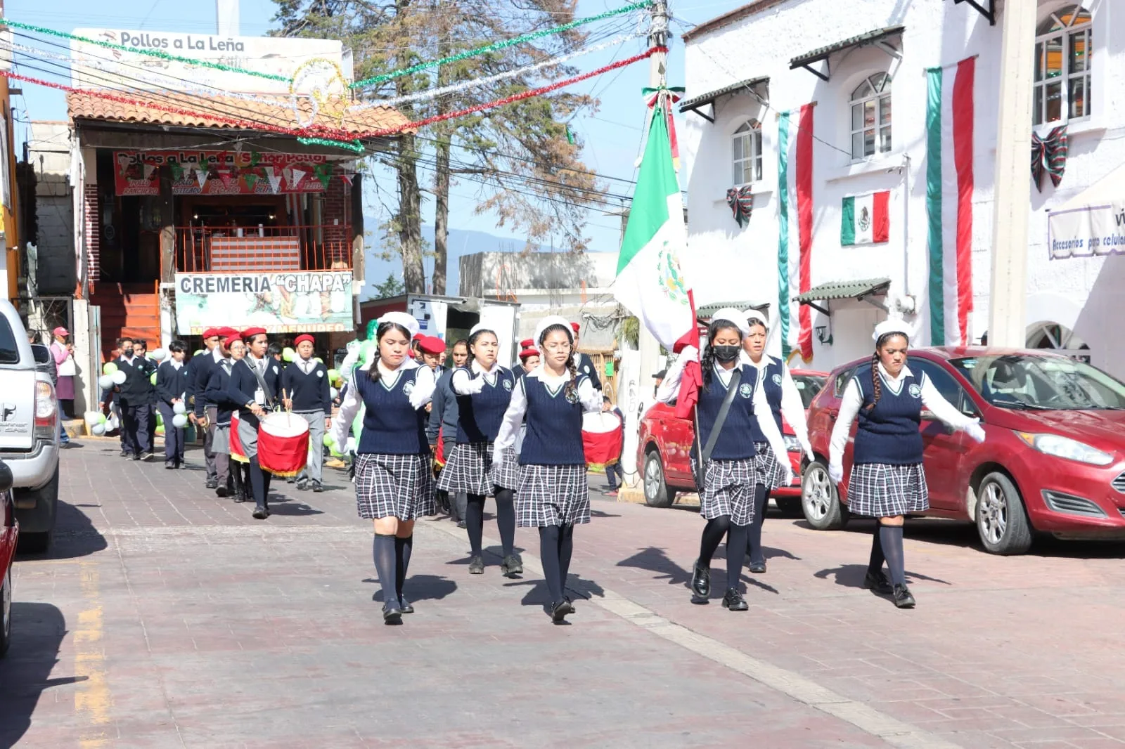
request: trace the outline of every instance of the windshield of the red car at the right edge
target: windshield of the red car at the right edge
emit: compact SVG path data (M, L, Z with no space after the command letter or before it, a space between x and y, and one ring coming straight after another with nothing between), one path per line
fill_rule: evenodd
M1080 361L1005 354L951 359L981 396L1001 408L1125 409L1125 383Z

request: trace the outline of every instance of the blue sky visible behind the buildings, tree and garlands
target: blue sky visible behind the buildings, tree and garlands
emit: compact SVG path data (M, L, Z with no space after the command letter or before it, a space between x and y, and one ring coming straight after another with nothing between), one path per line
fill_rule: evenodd
M627 0L580 0L578 12L582 16L598 13L620 7ZM677 18L698 24L727 10L742 4L738 0L685 0L683 4L673 3ZM48 26L60 30L72 30L76 27L150 29L214 33L214 0L183 2L182 0L7 0L7 15L25 22ZM46 8L46 9L44 9ZM272 27L274 12L272 0L242 0L242 34L258 36ZM591 26L590 28L596 28ZM674 30L682 30L674 26ZM583 71L600 67L614 58L628 57L644 48L644 40L627 43L620 51L608 49L579 57L575 65ZM683 45L675 39L668 63L668 83L683 84ZM645 119L645 107L641 88L648 83L648 64L640 62L626 69L612 71L605 75L576 84L574 91L593 92L601 98L602 106L596 112L583 111L570 123L572 129L585 139L584 157L595 171L608 177L636 179L633 163L640 145L641 126ZM58 91L43 89L32 84L22 84L24 100L16 99L14 107L26 108L26 115L32 119L65 119L66 108L63 94ZM17 126L17 139L22 141L24 128ZM423 171L424 182L432 180L430 172ZM394 195L394 178L389 174L377 175L376 181L381 190ZM450 226L460 229L488 232L502 237L511 237L522 242L523 237L508 227L497 228L495 216L474 214L474 208L480 199L478 187L474 182L456 184L450 199ZM605 187L614 193L629 195L632 187L615 180L605 180ZM374 206L367 211L376 211ZM432 217L432 205L423 206L426 223ZM614 216L604 216L601 210L588 211L586 235L591 237L592 251L616 251L620 238L620 222Z

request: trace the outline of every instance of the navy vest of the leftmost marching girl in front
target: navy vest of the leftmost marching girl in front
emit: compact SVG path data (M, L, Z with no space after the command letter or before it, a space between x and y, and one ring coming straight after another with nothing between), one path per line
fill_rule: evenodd
M371 366L378 367L378 363ZM398 379L389 387L385 378L372 382L368 372L356 370L356 388L367 407L358 452L422 455L430 451L425 436L429 414L425 408L415 409L411 405L411 390L420 370L399 370Z

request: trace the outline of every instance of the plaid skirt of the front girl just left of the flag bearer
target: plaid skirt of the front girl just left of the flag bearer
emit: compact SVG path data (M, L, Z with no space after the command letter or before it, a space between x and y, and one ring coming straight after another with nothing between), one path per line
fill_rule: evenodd
M578 525L590 522L590 486L585 466L521 466L515 489L520 527Z

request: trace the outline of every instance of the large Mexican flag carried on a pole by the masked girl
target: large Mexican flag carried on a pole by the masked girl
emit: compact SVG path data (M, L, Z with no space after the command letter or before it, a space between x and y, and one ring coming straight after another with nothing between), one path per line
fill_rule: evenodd
M648 120L648 137L621 241L613 296L637 316L660 345L678 352L688 343L699 349L699 330L691 288L680 267L687 233L665 116L670 106L670 96L665 90L657 98ZM700 383L702 377L696 363L684 372L677 414L686 412L694 403L695 388Z

